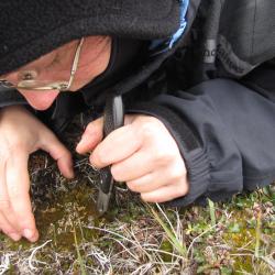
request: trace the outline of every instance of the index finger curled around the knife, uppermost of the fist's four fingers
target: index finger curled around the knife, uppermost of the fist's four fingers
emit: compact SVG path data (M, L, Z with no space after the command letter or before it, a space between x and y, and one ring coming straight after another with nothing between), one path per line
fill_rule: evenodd
M90 163L102 168L131 156L141 146L132 125L125 125L111 132L90 155Z

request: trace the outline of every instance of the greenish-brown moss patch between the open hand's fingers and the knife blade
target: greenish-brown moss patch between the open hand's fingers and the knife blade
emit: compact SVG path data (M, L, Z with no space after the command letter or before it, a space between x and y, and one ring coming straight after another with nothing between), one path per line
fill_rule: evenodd
M94 190L90 188L90 193ZM82 226L98 223L96 207L89 196L87 186L76 186L74 190L61 193L55 197L52 207L46 202L37 206L36 224L41 241L52 239L59 251L74 249L74 228L77 240L92 241L97 233Z

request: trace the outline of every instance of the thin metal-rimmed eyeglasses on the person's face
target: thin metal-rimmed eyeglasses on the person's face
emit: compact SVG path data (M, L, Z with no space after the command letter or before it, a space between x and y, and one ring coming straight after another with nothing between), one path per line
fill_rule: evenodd
M45 90L58 90L58 91L67 91L69 90L74 78L75 74L77 70L78 62L79 62L79 56L80 56L80 51L81 46L84 44L84 37L79 41L74 62L72 65L70 69L70 77L68 81L55 81L51 82L47 80L35 80L33 79L33 76L30 70L23 72L23 79L19 81L16 85L13 85L7 80L0 79L0 85L6 87L6 88L14 88L14 89L23 89L23 90L36 90L36 91L45 91Z

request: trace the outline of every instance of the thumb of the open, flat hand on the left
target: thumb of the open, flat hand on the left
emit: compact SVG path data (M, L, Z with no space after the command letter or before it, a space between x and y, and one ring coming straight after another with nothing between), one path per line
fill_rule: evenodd
M57 162L57 166L65 177L74 177L72 154L52 132L48 131L44 134L38 145Z

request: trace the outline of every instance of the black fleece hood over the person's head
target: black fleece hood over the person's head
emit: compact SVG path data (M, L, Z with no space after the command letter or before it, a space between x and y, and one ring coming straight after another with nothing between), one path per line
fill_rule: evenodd
M0 75L87 35L165 38L178 30L178 0L0 1Z

